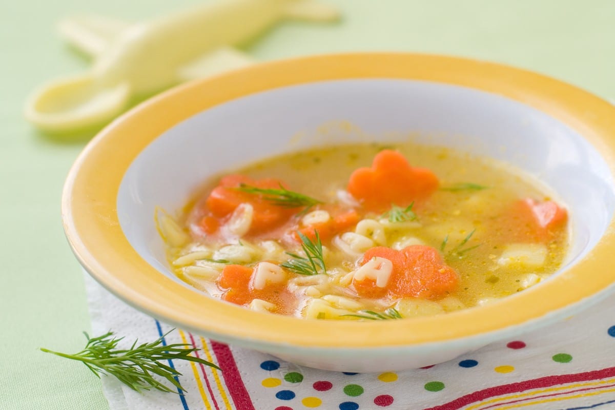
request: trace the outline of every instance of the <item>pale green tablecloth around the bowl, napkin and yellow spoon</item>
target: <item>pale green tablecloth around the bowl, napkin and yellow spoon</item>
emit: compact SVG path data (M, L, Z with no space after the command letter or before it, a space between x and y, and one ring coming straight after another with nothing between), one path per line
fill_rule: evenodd
M613 0L328 0L335 26L285 22L248 51L261 60L399 50L499 61L615 98ZM139 20L190 0L2 0L0 6L0 408L106 409L80 363L38 347L79 350L90 328L81 269L60 223L63 179L84 143L57 143L22 119L26 95L86 63L54 24L76 12Z

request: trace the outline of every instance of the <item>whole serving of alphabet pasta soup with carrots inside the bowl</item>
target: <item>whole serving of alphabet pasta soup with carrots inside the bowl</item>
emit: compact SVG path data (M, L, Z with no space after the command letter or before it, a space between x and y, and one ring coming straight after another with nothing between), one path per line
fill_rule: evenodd
M565 208L521 171L451 149L315 149L208 181L158 218L181 280L259 312L381 320L486 304L544 280Z

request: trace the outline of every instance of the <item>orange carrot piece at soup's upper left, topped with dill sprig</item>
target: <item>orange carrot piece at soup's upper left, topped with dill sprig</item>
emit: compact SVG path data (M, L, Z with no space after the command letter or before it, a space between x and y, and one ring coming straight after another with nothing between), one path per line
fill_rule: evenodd
M284 224L296 212L296 208L284 208L273 205L263 198L263 195L250 194L249 192L238 191L236 188L241 184L247 184L258 188L279 189L279 179L252 179L244 175L227 175L220 179L216 186L207 197L205 205L207 210L216 218L224 218L230 215L242 203L250 203L253 207L252 224L248 234L261 234L271 231Z

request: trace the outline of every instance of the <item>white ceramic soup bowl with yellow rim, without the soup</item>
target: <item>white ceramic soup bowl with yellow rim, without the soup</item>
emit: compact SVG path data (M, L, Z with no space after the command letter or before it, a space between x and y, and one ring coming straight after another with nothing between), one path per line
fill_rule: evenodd
M486 306L381 321L253 312L169 269L154 210L180 210L211 176L285 152L409 135L509 162L552 187L571 224L563 267ZM141 104L82 152L62 213L85 269L153 317L300 365L395 371L515 337L606 296L615 282L614 165L615 108L571 85L462 58L331 55L252 66Z

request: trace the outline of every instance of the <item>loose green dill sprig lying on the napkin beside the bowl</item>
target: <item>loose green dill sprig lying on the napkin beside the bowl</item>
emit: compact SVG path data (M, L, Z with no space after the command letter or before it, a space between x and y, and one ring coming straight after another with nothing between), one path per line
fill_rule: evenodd
M164 336L169 333L164 334ZM190 344L178 343L165 346L164 336L159 337L154 342L143 343L138 346L137 340L135 340L130 349L117 349L117 344L124 337L114 337L111 331L98 337L90 337L85 332L84 334L87 338L87 344L81 352L74 355L44 348L41 348L41 350L60 357L81 361L97 377L100 378L101 374L115 376L119 381L137 392L153 388L161 392L175 392L172 386L160 382L155 376L161 376L178 389L185 390L181 387L180 382L175 379L175 377L181 376L181 373L162 363L164 360L194 361L220 370L218 366L207 360L191 356L190 353L199 349L186 349L186 346L191 346Z

